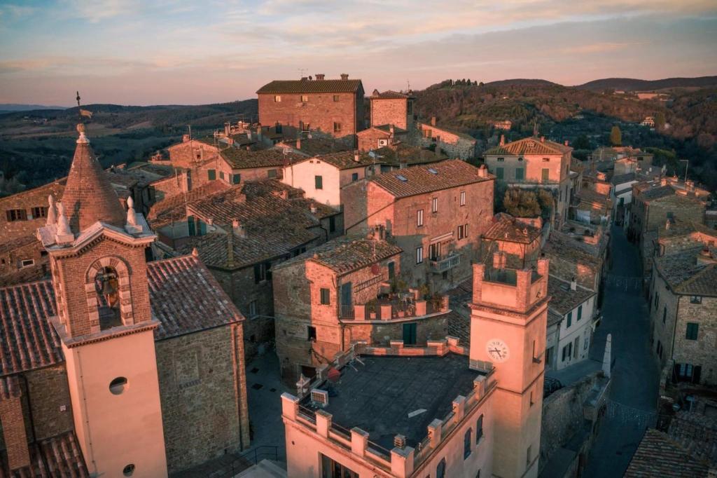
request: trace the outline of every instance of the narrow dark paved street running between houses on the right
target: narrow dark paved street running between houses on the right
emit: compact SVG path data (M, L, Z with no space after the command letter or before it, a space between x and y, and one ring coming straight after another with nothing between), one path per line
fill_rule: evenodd
M622 228L612 228L612 276L641 275L635 245ZM625 281L623 281L625 282ZM594 334L591 358L602 360L605 337L612 334L612 370L609 412L595 440L584 477L622 477L645 433L657 404L657 367L650 355L647 304L635 288L609 283L602 303L602 324Z

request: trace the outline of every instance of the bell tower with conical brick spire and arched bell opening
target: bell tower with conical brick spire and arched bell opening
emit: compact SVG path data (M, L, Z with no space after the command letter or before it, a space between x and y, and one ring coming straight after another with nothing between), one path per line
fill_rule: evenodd
M90 474L166 477L145 249L156 236L125 212L85 136L62 202L38 237L49 253L75 433Z

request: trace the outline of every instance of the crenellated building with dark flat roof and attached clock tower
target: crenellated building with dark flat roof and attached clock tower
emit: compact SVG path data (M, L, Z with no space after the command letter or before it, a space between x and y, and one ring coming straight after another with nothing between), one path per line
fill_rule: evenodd
M470 347L357 342L282 395L289 477L538 476L548 261L473 269Z

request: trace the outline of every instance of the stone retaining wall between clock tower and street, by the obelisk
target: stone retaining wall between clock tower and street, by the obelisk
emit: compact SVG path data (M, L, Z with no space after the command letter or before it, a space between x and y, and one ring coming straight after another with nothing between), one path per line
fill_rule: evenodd
M552 263L551 263L552 266ZM545 465L555 451L584 425L584 402L602 372L593 372L543 400L540 463Z

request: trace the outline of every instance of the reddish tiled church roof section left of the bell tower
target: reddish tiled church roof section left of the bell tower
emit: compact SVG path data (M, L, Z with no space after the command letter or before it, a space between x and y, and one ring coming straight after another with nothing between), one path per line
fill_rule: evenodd
M50 281L0 289L0 375L65 361L60 339L47 320L54 315Z

